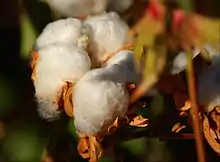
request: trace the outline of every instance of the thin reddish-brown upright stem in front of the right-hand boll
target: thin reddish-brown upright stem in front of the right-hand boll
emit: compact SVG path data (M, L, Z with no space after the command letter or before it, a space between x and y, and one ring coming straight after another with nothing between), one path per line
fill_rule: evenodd
M198 162L205 162L205 151L203 144L203 136L201 130L201 123L199 119L199 108L196 103L196 92L195 92L195 78L192 66L192 53L188 52L188 67L187 67L187 75L188 75L188 84L189 84L189 96L192 103L191 116L193 121L193 131L195 134L196 140L196 149L198 155Z

